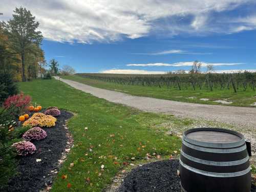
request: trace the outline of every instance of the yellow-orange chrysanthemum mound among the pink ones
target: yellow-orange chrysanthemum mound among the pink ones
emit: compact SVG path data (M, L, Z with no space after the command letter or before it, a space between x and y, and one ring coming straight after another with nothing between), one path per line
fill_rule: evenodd
M47 126L51 127L55 125L56 118L51 115L45 115L44 113L34 113L31 118L23 123L23 126Z

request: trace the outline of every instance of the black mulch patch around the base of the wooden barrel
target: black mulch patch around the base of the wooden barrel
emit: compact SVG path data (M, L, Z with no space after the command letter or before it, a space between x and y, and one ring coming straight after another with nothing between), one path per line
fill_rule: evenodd
M177 176L178 167L179 160L157 161L139 166L127 174L119 191L180 192L180 179ZM256 187L253 185L251 192L256 192Z

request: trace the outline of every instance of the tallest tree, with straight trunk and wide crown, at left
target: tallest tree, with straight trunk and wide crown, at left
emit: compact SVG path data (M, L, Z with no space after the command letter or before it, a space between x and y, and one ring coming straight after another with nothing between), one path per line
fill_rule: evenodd
M36 31L39 23L35 22L35 17L29 10L20 7L13 12L13 18L5 27L9 32L14 50L22 58L22 81L25 81L25 54L32 45L39 46L43 37L40 31Z

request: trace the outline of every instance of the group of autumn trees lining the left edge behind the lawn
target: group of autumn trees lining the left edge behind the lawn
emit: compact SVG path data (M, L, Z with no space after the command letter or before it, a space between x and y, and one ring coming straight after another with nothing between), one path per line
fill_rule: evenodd
M14 81L27 81L42 74L71 74L70 66L59 68L55 59L47 62L40 45L43 39L39 22L26 8L15 8L8 22L0 22L0 71L10 73ZM0 17L3 15L0 13Z

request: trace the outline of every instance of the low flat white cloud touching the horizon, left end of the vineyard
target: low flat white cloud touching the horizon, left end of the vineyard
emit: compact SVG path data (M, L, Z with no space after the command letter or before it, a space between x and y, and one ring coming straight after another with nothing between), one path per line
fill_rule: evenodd
M110 69L100 71L100 73L115 73L115 74L166 74L165 71L146 71L146 70L132 70L132 69Z

